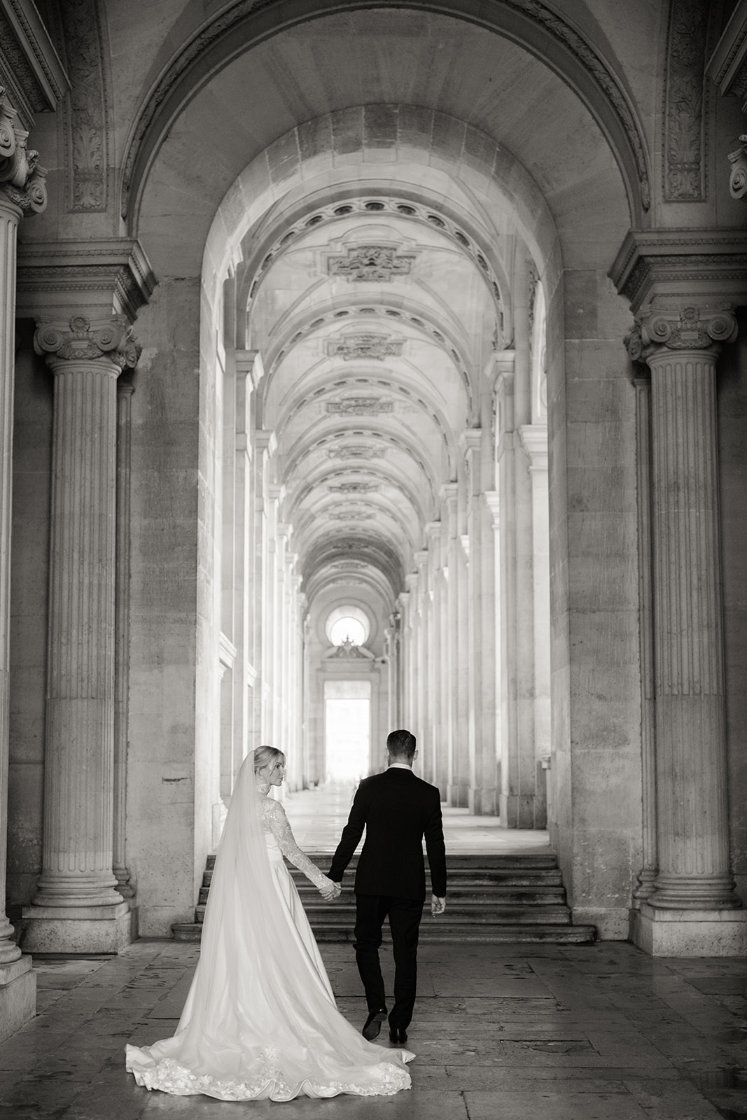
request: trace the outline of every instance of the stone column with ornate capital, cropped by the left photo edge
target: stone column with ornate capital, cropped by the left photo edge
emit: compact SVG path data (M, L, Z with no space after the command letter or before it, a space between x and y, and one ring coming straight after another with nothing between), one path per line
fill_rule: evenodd
M46 172L36 166L37 153L27 151L27 137L17 125L16 111L0 97L0 1040L36 1010L31 958L21 955L6 917L16 244L24 215L39 213L47 204Z

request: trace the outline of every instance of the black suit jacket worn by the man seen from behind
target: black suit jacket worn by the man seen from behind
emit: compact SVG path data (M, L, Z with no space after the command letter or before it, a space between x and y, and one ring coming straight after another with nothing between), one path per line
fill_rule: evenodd
M410 769L391 766L383 774L364 778L329 868L335 883L342 880L364 828L366 839L355 875L357 895L423 900L423 837L432 892L439 898L446 895L441 796L435 785Z

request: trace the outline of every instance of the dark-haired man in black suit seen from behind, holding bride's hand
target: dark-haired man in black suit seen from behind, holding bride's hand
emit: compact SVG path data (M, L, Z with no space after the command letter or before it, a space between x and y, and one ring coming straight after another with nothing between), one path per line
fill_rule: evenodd
M415 1002L418 931L426 900L426 838L432 886L431 914L446 909L446 849L441 823L441 797L412 773L418 757L410 731L392 731L386 738L389 765L383 774L364 778L353 800L329 868L329 878L340 883L357 843L366 839L355 875L355 959L368 1005L363 1036L379 1035L386 1018L384 980L379 962L382 925L389 916L394 952L394 1006L389 1016L389 1037L404 1043Z

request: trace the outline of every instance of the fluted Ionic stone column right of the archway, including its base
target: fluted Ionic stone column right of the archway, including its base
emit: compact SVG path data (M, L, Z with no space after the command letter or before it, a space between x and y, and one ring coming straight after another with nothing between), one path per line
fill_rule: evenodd
M663 955L747 950L729 869L716 362L728 310L648 310L628 339L651 368L656 830L634 937Z

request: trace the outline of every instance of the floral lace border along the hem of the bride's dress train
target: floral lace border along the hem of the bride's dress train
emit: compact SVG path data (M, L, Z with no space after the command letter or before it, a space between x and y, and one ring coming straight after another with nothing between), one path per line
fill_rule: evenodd
M357 1096L392 1096L411 1084L407 1070L381 1062L370 1083L332 1082L321 1084L311 1077L290 1084L283 1077L279 1054L268 1048L258 1061L256 1074L246 1081L232 1077L217 1079L193 1073L172 1058L161 1058L158 1064L132 1070L136 1081L146 1089L158 1089L174 1096L196 1096L203 1094L220 1101L267 1100L292 1101L306 1092L308 1096L337 1096L354 1093Z

